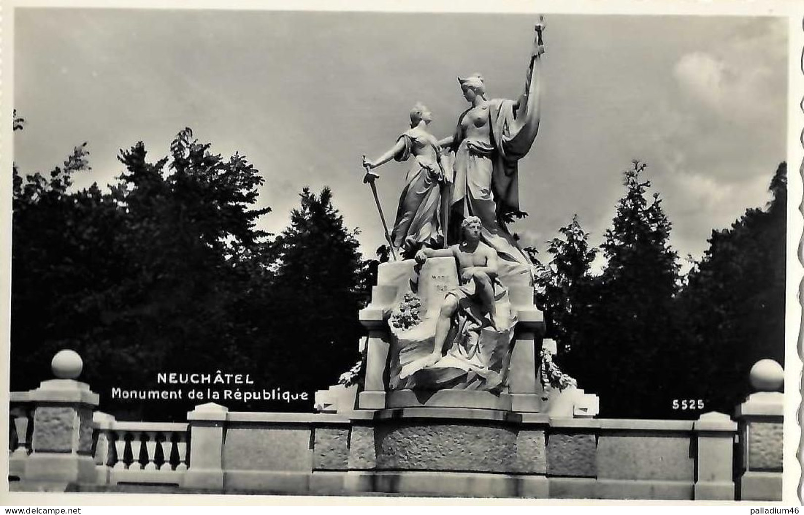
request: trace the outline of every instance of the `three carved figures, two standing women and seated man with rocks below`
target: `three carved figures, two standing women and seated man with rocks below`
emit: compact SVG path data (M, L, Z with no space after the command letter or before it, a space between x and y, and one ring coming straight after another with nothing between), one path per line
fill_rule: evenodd
M392 159L411 161L392 231L386 230L392 254L416 262L410 291L388 313L396 348L392 390L494 391L504 385L516 324L506 277L531 280L532 273L507 223L523 215L517 163L539 131L543 29L539 18L518 100L487 98L479 74L459 77L470 107L458 116L453 135L430 133L433 116L417 103L410 129L391 149L375 160L363 156L363 182L372 188L379 177L373 169ZM421 274L437 258L451 259L453 271ZM428 281L441 286L436 295L423 294L423 302L418 289Z

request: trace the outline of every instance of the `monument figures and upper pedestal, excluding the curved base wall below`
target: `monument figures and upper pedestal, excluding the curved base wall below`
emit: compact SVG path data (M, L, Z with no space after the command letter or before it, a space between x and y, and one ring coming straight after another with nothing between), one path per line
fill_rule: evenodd
M470 108L452 136L433 137L432 115L416 104L411 129L392 149L373 161L363 156L364 182L372 186L379 176L371 169L414 157L387 237L392 250L415 259L381 264L371 304L360 313L369 336L359 409L539 413L558 395L548 393L548 370L540 370L555 349L542 347L533 265L507 229L522 214L517 161L539 130L543 30L539 18L519 100L486 99L482 76L459 78ZM572 399L564 395L551 413L562 404L570 417L597 414L597 398L572 389Z

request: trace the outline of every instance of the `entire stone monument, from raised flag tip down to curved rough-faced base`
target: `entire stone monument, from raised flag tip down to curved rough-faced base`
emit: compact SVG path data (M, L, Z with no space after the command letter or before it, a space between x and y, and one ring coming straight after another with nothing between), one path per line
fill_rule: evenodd
M523 215L517 161L539 128L535 28L519 100L487 100L481 76L460 79L471 106L453 136L437 141L417 106L392 149L363 157L374 193L373 168L414 162L386 230L391 254L408 259L379 265L360 311L363 384L316 395L319 411L349 419L349 491L547 497L548 427L597 415L597 397L552 362L533 264L507 229Z

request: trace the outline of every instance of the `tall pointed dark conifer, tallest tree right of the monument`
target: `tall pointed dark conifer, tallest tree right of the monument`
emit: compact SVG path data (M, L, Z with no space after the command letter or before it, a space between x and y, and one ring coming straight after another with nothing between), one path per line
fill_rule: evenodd
M606 265L589 295L577 379L599 394L605 416L672 418L682 360L674 296L677 255L658 193L643 181L646 165L624 173L626 193L601 244ZM648 196L650 195L650 196ZM628 399L625 402L625 399Z

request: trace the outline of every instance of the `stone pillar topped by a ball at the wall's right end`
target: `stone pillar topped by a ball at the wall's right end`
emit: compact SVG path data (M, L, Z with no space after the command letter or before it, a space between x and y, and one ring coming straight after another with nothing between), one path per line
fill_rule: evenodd
M736 409L739 423L740 471L737 497L740 501L781 501L782 422L784 419L784 370L770 359L751 369L750 394Z

